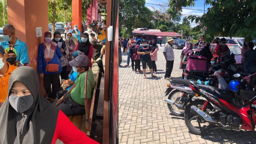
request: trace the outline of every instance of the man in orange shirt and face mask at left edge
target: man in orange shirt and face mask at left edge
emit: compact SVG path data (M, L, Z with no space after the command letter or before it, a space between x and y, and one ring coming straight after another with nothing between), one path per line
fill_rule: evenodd
M6 59L8 58L5 53L4 47L0 46L0 107L8 96L8 83L9 77L13 70L18 67L10 65Z

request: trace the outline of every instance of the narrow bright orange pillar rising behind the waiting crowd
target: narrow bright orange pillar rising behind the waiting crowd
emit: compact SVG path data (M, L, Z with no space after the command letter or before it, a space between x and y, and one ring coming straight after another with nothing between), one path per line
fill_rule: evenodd
M74 25L82 31L82 0L72 0L72 29Z

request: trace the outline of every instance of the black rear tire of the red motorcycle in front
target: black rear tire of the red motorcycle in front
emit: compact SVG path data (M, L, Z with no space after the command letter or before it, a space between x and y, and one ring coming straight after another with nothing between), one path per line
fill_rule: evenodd
M209 125L206 126L205 128L203 127L204 129L201 129L201 124L199 125L200 128L196 128L196 127L194 127L194 126L191 124L191 122L190 122L191 119L193 118L193 117L191 118L191 114L193 114L193 112L191 112L190 107L191 107L191 106L199 106L199 105L202 106L202 105L204 104L204 102L205 102L205 100L201 100L201 99L192 101L192 102L186 107L185 114L184 114L184 120L185 120L186 126L188 127L188 129L189 129L192 133L194 133L194 134L196 134L196 135L205 135L205 134L207 134L207 131L209 131L212 126L214 126L214 125L209 124L208 122L206 122L206 123L208 123ZM207 109L209 109L209 110L212 110L212 109L213 109L213 107L212 107L212 105L211 105L210 103L207 105ZM193 115L195 115L195 114L193 114ZM196 115L195 115L195 116L196 116ZM201 118L198 117L198 119L201 119ZM197 120L197 122L200 123L198 120Z

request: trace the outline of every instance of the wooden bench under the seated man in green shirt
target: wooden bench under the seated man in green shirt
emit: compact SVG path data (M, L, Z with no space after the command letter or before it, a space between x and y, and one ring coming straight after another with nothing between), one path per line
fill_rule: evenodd
M96 128L97 124L95 123L96 120L96 114L97 114L97 108L98 108L98 101L99 101L99 95L100 95L100 82L101 82L101 76L102 72L99 72L100 68L98 69L98 73L95 79L95 86L93 90L93 96L91 100L91 110L90 110L90 116L89 116L89 125L88 129L86 129L86 116L84 115L76 115L76 116L69 116L69 120L82 132L85 132L90 138L95 138Z

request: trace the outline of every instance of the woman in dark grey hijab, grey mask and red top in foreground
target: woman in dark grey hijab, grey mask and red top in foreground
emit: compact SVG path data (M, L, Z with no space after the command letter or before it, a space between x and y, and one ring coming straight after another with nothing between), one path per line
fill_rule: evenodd
M0 108L1 143L97 143L74 126L54 105L40 96L36 71L15 69L8 97Z

